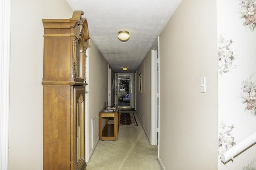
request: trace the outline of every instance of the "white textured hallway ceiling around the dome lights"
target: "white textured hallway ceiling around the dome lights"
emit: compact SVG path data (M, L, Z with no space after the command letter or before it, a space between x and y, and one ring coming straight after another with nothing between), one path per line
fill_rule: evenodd
M90 39L114 72L135 72L181 0L67 0L82 10ZM118 31L130 39L118 40Z

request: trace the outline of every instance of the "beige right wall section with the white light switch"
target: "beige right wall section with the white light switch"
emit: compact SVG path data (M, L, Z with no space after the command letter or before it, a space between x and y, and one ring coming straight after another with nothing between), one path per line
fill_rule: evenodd
M160 34L159 158L166 170L218 168L216 15L216 1L182 0Z

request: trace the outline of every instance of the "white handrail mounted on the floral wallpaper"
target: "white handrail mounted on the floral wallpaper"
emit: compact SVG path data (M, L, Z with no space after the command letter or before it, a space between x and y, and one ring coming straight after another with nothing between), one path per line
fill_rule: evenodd
M221 161L227 162L230 159L233 159L234 156L238 155L248 147L252 146L256 143L256 132L252 133L252 135L248 136L246 139L241 141L240 143L234 145L232 148L228 149L226 152L221 154Z

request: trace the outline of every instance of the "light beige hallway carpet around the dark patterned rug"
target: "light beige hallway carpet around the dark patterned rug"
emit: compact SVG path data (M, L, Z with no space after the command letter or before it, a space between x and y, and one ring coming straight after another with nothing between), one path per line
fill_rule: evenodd
M99 141L86 170L162 170L158 146L150 145L136 111L133 112L138 126L120 126L118 140Z

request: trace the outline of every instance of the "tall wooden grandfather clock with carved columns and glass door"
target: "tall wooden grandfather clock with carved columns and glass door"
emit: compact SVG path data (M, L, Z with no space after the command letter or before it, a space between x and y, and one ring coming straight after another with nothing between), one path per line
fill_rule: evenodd
M44 170L85 170L86 18L43 19Z

